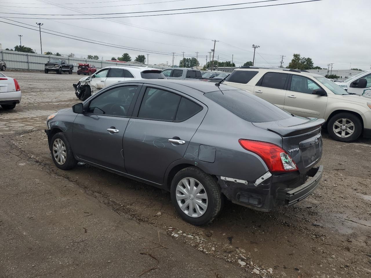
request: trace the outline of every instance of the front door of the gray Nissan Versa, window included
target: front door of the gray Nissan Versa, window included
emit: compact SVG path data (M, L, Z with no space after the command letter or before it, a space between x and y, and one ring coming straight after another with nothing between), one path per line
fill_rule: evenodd
M122 139L141 85L110 87L84 103L73 122L72 148L78 158L125 172Z

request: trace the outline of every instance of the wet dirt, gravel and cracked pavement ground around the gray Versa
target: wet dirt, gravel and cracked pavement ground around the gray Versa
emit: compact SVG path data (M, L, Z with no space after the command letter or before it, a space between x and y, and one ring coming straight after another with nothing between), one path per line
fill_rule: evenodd
M323 132L324 178L314 194L270 213L227 202L213 223L196 227L160 189L53 165L45 119L78 102L79 76L6 73L22 102L0 108L0 277L138 277L156 263L141 252L159 260L143 277L371 277L371 140L341 143ZM143 249L156 246L158 231L171 248Z

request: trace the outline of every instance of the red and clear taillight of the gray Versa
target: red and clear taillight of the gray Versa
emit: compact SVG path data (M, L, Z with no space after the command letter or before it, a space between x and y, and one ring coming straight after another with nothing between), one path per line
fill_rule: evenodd
M246 139L238 142L244 149L259 155L272 172L298 170L289 154L275 144Z

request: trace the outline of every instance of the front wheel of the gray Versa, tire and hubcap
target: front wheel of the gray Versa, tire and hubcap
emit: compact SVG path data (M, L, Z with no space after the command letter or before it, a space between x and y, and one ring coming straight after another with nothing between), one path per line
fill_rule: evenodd
M63 144L60 145L60 142L62 142ZM63 146L64 146L64 152L63 152ZM56 154L59 152L59 150L61 150L65 154L64 161L63 161L63 153L62 153L62 159L61 159L61 155ZM53 159L55 166L57 166L59 169L69 170L69 169L75 168L77 165L77 160L73 156L71 145L68 142L68 139L63 132L56 133L53 136L51 140L50 153L52 155L52 159Z

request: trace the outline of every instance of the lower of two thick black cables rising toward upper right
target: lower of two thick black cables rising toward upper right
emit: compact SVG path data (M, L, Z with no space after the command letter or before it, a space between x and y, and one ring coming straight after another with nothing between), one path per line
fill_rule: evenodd
M273 0L269 0L273 1ZM212 11L230 11L230 10L243 10L243 9L253 9L253 8L261 8L261 7L273 7L273 6L283 6L283 5L290 5L290 4L300 4L300 3L309 3L309 2L317 2L322 0L307 0L307 1L299 1L299 2L291 2L291 3L281 3L281 4L272 4L272 5L262 5L262 6L253 6L253 7L239 7L239 8L232 8L232 9L220 9L220 10L208 10L208 11L187 11L185 13L167 13L167 14L146 14L142 16L113 16L113 17L101 17L102 19L115 19L115 18L128 18L128 17L148 17L148 16L170 16L175 14L190 14L190 13L209 13ZM258 3L258 2L255 2ZM141 12L135 12L141 13ZM89 15L89 14L86 14ZM93 14L91 14L93 15ZM22 19L38 19L35 17L6 17L6 18L22 18ZM50 19L50 18L45 18ZM56 19L56 18L52 18ZM96 19L96 17L79 17L79 18L57 18L58 20L74 20L74 19Z

